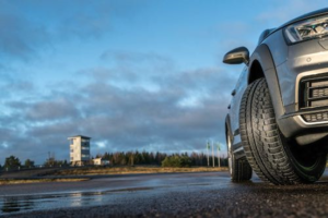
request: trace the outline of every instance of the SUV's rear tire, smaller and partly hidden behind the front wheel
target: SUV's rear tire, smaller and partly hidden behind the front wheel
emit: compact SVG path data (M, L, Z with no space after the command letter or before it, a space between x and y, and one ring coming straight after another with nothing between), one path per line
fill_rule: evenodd
M232 150L232 136L231 133L227 131L226 134L226 145L227 145L227 164L229 164L229 171L231 174L231 180L233 182L243 182L248 181L251 178L251 167L248 164L246 158L236 159L234 153Z

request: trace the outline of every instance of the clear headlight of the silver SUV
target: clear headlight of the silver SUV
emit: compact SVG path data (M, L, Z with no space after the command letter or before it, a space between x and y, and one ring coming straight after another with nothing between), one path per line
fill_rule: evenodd
M284 29L284 33L290 43L325 37L328 35L328 16L319 16L292 24Z

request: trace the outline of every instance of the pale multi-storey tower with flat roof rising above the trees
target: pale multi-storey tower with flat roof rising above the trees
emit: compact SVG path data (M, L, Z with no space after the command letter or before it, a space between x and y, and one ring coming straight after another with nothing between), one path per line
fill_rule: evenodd
M91 137L77 135L68 138L70 141L70 161L72 166L84 166L90 162Z

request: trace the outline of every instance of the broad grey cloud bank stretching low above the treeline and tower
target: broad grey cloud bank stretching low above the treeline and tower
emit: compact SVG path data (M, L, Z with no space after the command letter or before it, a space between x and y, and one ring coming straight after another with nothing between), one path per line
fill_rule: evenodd
M233 88L235 75L218 66L180 71L167 60L159 55L131 52L101 71L101 77L109 74L106 80L99 80L98 69L84 69L79 72L89 78L87 83L71 88L70 82L62 82L50 94L34 96L33 101L8 101L5 106L14 111L8 120L13 123L7 130L9 138L2 141L8 146L0 146L0 152L10 154L28 147L68 159L67 137L75 134L93 138L93 155L136 149L202 150L209 138L224 143L223 121L230 100L225 90ZM133 69L140 61L147 63L142 66L144 73ZM127 66L127 70L137 81L148 80L157 89L148 89L142 83L115 85L129 81L129 74L117 76L113 84L110 75ZM162 70L153 71L159 65ZM169 73L163 73L167 69ZM181 104L190 97L197 99L194 105ZM46 157L23 152L16 155L23 159L31 155L37 162Z

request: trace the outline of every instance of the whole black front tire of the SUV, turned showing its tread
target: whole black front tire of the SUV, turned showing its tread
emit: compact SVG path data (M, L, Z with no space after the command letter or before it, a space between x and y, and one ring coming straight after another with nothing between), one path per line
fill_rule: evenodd
M301 147L281 134L265 78L251 83L239 110L242 144L249 165L263 181L297 184L317 181L326 168L327 153Z

